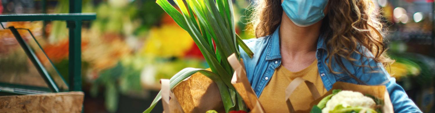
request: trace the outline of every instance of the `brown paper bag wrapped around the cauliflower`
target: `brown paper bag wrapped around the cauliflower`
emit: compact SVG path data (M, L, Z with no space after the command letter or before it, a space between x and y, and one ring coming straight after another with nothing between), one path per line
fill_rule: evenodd
M366 85L358 85L353 83L345 83L345 82L336 82L332 85L331 90L329 90L325 95L321 96L319 99L315 100L310 104L310 106L317 105L321 99L332 94L332 90L341 89L341 90L350 90L354 92L360 92L362 94L370 94L372 96L377 97L378 99L384 100L384 106L382 108L382 113L394 113L393 105L391 104L390 96L388 94L385 86L366 86Z

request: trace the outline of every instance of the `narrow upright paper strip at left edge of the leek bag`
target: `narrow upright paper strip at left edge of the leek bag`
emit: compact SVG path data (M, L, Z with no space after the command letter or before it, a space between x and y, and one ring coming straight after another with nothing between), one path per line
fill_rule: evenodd
M161 96L163 104L163 113L184 113L183 108L177 101L174 93L169 87L169 80L161 79Z

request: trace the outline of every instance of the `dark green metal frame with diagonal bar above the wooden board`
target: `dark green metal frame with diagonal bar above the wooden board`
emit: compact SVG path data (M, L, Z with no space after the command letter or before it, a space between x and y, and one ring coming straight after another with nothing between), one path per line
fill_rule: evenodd
M45 6L43 0L43 6ZM81 24L84 20L95 20L96 13L81 13L82 0L70 0L70 12L60 14L2 14L0 15L0 22L13 22L13 21L53 21L60 20L66 21L69 28L69 64L68 64L68 89L69 91L81 91ZM43 7L45 9L45 7ZM46 11L43 11L45 13ZM3 27L3 25L2 25ZM52 77L47 73L33 50L20 36L17 31L19 28L8 27L9 30L16 37L18 43L23 48L31 62L37 68L38 73L41 74L44 81L49 86L52 92L59 92L57 84ZM29 30L30 32L30 30ZM36 41L36 40L35 40ZM39 43L38 43L39 44ZM42 48L41 48L42 49ZM2 90L0 90L2 91ZM10 92L9 92L10 93ZM17 93L17 92L16 92ZM26 93L19 93L26 94Z

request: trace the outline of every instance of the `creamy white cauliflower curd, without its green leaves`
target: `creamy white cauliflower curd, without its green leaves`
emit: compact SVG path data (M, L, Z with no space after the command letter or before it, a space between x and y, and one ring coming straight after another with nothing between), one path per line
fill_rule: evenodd
M362 93L343 90L331 97L331 100L329 100L325 108L322 109L322 113L329 113L330 110L334 110L338 105L343 107L358 106L374 109L376 103L373 99L364 96Z

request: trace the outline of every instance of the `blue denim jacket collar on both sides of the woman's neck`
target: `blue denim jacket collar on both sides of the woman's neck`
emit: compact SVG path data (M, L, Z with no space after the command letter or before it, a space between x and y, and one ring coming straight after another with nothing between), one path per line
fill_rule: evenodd
M267 46L267 54L266 54L266 60L274 60L274 59L281 59L281 51L280 51L280 37L279 37L279 29L281 26L278 26L278 28L274 31L274 33L269 37L269 43ZM319 49L325 49L325 36L323 33L319 36L317 40L317 50Z

